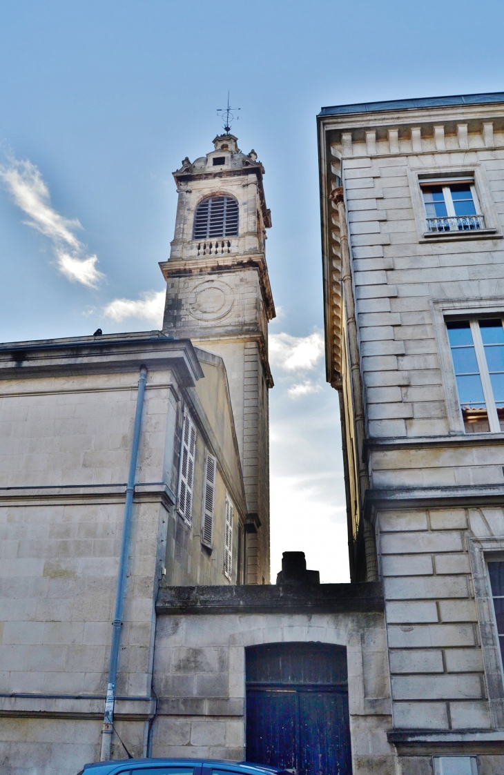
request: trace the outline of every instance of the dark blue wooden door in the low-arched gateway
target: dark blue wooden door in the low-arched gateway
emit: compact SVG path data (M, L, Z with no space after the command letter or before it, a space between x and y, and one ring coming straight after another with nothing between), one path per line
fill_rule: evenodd
M267 643L245 653L247 761L350 775L347 649Z

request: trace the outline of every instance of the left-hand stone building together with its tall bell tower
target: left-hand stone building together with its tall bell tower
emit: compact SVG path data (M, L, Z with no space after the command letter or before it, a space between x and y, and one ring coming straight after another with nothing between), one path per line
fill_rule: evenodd
M149 753L161 581L269 583L270 214L256 154L214 143L174 174L161 332L0 346L2 771L123 756L105 693Z

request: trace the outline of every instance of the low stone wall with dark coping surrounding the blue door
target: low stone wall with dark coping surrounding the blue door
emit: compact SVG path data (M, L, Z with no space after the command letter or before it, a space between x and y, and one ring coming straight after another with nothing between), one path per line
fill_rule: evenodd
M347 649L353 771L392 773L385 620L379 584L162 587L157 599L155 756L243 760L245 649Z

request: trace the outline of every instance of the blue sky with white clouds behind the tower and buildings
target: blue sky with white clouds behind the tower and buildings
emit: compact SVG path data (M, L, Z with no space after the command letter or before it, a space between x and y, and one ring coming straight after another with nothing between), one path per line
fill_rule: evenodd
M271 571L348 580L337 394L325 383L316 114L504 90L494 0L0 0L0 340L157 329L181 159L216 108L266 168Z

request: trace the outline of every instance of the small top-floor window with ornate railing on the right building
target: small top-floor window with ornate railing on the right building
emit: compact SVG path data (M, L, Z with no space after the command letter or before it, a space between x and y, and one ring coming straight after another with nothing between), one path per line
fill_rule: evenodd
M467 232L485 229L474 181L420 183L429 232Z

